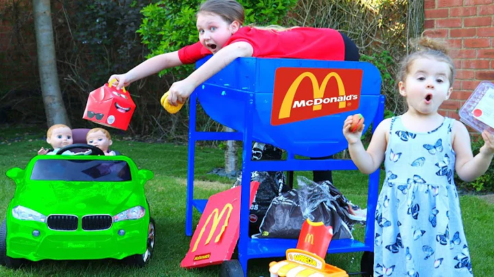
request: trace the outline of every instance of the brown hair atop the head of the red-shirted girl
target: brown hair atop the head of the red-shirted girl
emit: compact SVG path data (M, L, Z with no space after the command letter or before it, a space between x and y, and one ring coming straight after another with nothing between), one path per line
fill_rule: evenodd
M228 24L238 21L243 25L245 21L244 7L235 0L207 0L200 5L196 16L201 13L217 14Z

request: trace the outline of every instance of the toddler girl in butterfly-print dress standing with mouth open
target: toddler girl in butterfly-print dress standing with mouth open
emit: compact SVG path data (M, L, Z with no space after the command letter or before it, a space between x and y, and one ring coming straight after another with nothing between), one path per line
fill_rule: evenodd
M343 133L362 173L384 160L386 179L375 212L374 270L379 276L472 276L454 171L465 181L478 178L494 155L494 136L482 132L475 157L467 128L438 113L449 98L454 64L445 45L419 40L419 50L403 60L399 93L408 111L385 119L364 149L361 132Z

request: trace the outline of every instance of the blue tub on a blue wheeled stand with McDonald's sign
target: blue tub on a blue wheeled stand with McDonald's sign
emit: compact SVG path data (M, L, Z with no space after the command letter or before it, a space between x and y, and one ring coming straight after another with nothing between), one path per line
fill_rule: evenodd
M207 59L200 60L197 67ZM211 244L221 243L221 236L231 223L228 220L238 218L229 213L226 217L217 211L213 215L210 208L204 210L208 200L193 197L196 141L242 141L242 176L250 176L252 171L357 170L351 160L307 160L298 156L325 157L346 149L348 145L342 126L349 115L360 114L357 121L364 117L365 129L369 126L375 128L384 115L384 95L380 95L380 89L379 71L368 62L268 58L237 58L196 88L190 98L185 233L192 235L193 208L203 213L202 217L213 218L210 221L215 223L215 228L213 224L199 225L196 232L204 232L199 236L203 239L193 241L197 237L194 236L191 245L199 246L191 248L193 253L189 250L188 254L207 261L211 255L201 252L201 245L208 245L211 249ZM236 132L196 131L197 101L212 119ZM285 149L286 160L251 160L254 141ZM238 260L229 260L231 254L226 256L222 262L222 276L246 276L248 260L285 256L288 249L297 245L296 239L254 239L248 236L251 193L255 193L249 188L249 178L242 178L242 190L238 191L240 201L234 203L240 205L236 211L239 213ZM379 169L368 179L368 222L373 222L378 189ZM217 206L217 210L222 210L223 204ZM362 273L372 274L373 233L374 225L366 224L364 241L333 240L324 252L364 252ZM228 243L235 245L237 240ZM182 266L194 267L193 262Z

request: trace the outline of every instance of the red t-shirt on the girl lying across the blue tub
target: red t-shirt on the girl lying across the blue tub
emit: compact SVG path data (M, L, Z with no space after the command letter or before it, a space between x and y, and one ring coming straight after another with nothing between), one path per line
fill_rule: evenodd
M344 42L340 32L329 28L296 27L283 32L242 27L225 45L245 41L252 45L256 58L301 58L311 60L344 60ZM178 50L184 64L197 62L211 54L200 43Z

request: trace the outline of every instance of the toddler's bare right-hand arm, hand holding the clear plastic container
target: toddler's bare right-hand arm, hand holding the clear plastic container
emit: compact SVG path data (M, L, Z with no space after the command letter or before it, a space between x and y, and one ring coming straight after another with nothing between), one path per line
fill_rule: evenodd
M494 136L489 132L482 132L484 146L479 154L472 154L470 136L463 123L455 121L453 127L453 149L456 152L455 170L465 182L471 182L484 174L494 156Z

